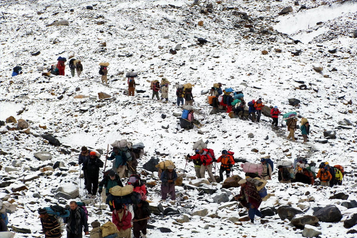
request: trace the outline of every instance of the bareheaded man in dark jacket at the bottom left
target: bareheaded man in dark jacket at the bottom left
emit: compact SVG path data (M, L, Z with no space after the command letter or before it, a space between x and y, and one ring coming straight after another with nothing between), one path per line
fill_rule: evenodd
M87 215L77 206L76 201L71 201L69 206L70 215L63 218L64 223L67 223L67 238L82 238L82 229L85 236L89 234Z

